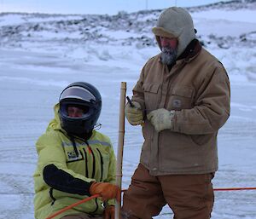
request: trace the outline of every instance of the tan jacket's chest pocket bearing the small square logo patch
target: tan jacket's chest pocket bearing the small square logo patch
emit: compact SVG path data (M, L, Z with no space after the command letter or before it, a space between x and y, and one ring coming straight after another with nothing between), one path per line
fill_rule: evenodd
M189 86L174 87L168 101L169 110L192 108L194 89Z

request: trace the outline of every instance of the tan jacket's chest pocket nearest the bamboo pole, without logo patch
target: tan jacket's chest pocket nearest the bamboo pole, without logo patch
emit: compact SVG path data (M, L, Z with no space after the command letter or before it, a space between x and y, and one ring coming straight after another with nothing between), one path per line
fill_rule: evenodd
M160 84L143 84L145 106L148 112L157 108L159 87Z

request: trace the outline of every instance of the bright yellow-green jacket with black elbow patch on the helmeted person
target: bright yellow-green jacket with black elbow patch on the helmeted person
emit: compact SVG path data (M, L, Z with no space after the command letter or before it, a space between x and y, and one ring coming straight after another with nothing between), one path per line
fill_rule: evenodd
M55 211L90 196L91 182L115 183L116 160L109 138L93 130L87 141L79 137L74 137L72 141L65 130L61 129L58 110L59 104L56 104L55 118L36 143L38 166L33 176L36 219L45 219ZM52 170L52 176L55 175L55 170L61 172L54 185L45 182L45 167ZM51 179L51 176L48 178ZM108 200L108 205L114 205L114 200ZM63 212L55 219L81 212L101 215L103 210L100 198L91 199Z

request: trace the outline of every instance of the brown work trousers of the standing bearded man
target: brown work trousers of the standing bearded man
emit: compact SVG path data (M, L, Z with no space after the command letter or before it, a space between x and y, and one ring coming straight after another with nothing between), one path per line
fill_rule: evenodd
M151 219L169 205L175 219L209 219L214 174L150 176L139 164L124 193L122 218Z

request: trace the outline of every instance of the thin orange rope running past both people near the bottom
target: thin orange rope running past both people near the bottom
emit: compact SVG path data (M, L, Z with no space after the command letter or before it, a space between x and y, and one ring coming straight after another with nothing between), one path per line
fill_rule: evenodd
M122 189L122 192L124 192L127 189ZM236 190L256 190L256 187L222 187L222 188L213 188L213 191L236 191ZM55 216L60 215L62 212L69 210L71 208L73 208L74 206L80 205L84 202L90 201L90 199L95 199L97 197L99 197L99 194L95 194L93 196L90 196L86 199L80 200L79 202L74 203L73 205L69 205L59 211L56 211L52 216L47 217L46 219L52 219Z

